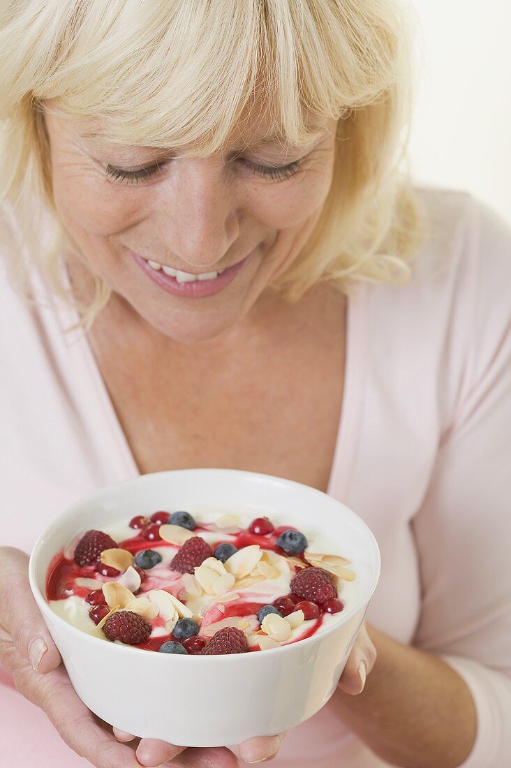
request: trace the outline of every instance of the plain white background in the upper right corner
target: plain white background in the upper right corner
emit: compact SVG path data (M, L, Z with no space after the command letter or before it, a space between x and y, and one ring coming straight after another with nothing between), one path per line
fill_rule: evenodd
M511 2L412 0L410 171L467 190L511 224Z

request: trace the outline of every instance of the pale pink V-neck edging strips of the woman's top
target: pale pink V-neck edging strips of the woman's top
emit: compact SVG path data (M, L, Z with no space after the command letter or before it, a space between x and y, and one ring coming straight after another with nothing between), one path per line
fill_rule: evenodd
M63 271L66 288L71 290L67 270ZM55 310L58 311L63 333L66 333L66 329L78 325L80 318L75 306L61 305L58 307L55 306L55 303L53 305ZM330 467L330 477L327 485L327 494L340 499L340 501L346 501L347 498L363 412L363 392L365 389L367 361L366 310L367 286L360 283L357 286L356 295L353 298L347 298L343 394L337 437ZM69 349L75 355L75 364L79 364L81 359L82 365L85 367L84 375L88 375L91 379L96 395L96 403L105 417L105 425L108 425L114 440L116 449L112 456L114 482L138 477L138 475L141 475L141 472L131 451L128 438L118 419L88 335L82 327L77 329L77 331L79 336Z

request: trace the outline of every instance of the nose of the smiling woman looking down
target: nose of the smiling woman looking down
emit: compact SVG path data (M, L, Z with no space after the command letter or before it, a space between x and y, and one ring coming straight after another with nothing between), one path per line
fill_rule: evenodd
M183 267L213 270L239 235L237 206L223 161L179 158L163 187L158 235L169 259Z

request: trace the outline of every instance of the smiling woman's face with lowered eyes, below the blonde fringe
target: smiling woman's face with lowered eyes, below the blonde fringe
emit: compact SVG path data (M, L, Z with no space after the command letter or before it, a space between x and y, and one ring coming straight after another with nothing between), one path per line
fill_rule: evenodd
M268 126L249 121L210 157L108 144L85 136L97 125L53 114L45 124L73 244L124 306L181 342L214 339L251 310L300 253L330 188L336 121L307 147L260 144Z

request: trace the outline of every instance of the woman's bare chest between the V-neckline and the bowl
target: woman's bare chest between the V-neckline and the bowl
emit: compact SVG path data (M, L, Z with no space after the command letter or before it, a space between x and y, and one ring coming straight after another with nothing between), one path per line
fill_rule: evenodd
M285 339L263 334L243 353L205 360L166 356L158 366L100 350L139 471L245 469L326 490L343 397L345 343L336 325Z

